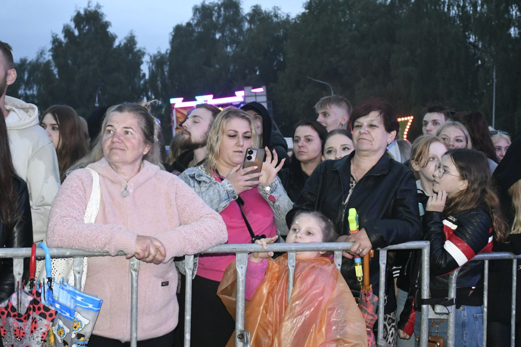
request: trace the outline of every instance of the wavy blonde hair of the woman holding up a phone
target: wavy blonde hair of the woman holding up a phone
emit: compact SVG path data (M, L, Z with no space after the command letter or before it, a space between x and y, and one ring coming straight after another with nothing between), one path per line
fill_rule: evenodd
M209 171L215 171L217 167L222 135L224 135L226 123L233 118L246 120L250 124L250 131L252 132L252 147L258 147L260 145L259 137L255 132L253 118L242 109L234 107L225 108L217 115L208 133L208 157L206 158L205 167Z

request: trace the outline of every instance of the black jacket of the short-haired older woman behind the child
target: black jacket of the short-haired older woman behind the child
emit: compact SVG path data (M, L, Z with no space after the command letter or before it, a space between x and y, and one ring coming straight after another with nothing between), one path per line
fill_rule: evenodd
M318 210L333 221L339 234L349 235L347 214L349 208L354 207L358 213L359 227L366 230L374 249L420 239L421 225L413 173L387 153L358 181L348 204L343 204L349 193L353 156L354 152L339 160L320 163L286 216L287 222L291 222L299 209ZM378 252L375 252L375 257L370 261L370 282L377 295L378 257ZM356 296L360 287L356 283L354 261L343 258L341 272ZM390 264L386 276L385 312L388 314L396 309Z

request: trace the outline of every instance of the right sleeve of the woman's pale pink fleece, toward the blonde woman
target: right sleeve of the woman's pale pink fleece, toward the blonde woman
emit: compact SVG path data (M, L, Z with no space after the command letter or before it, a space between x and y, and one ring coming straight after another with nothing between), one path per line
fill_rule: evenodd
M163 242L167 256L195 254L228 241L228 231L221 216L210 208L188 184L170 175L160 178L166 189L175 194L179 227L157 234Z

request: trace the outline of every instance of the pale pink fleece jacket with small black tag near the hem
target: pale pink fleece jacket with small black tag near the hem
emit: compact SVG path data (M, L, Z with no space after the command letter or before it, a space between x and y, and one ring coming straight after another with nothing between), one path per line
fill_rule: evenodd
M227 241L222 218L183 181L143 160L127 182L103 158L88 167L100 174L101 204L95 224L84 224L92 191L86 169L67 177L49 215L47 244L92 252L133 254L138 234L153 236L166 247L163 264L141 262L138 285L138 340L177 326L177 272L172 258L194 254ZM103 299L94 334L130 340L130 271L125 257L91 257L85 292Z

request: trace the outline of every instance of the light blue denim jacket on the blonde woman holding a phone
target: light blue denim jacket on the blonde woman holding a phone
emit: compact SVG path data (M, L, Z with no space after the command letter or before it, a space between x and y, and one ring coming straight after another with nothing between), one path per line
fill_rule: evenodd
M212 175L200 165L184 170L179 176L216 212L224 210L232 201L237 200L239 194L235 192L227 179L217 182ZM275 218L275 226L279 235L279 242L283 242L281 235L287 235L289 230L286 225L286 214L293 207L293 202L282 187L280 179L276 176L270 184L259 184L258 192L271 207ZM271 199L269 199L271 197ZM176 262L181 274L184 274L184 261ZM194 257L194 276L197 269L197 256Z

